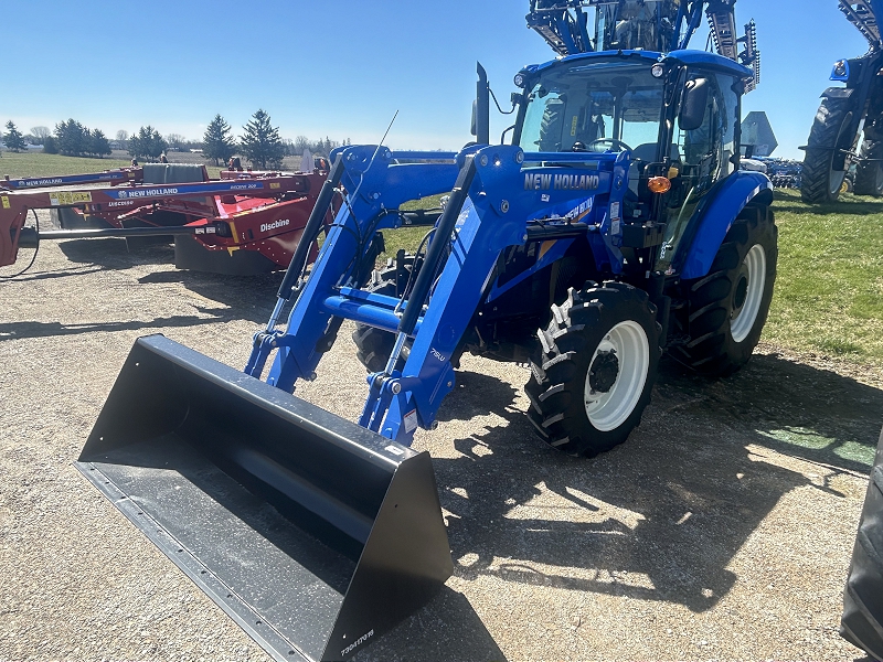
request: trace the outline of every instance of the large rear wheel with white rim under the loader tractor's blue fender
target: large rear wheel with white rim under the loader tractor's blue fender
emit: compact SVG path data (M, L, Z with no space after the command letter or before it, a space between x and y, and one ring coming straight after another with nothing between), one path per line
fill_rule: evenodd
M681 284L690 342L671 355L710 376L734 373L760 340L776 282L778 231L767 207L746 207L704 278Z

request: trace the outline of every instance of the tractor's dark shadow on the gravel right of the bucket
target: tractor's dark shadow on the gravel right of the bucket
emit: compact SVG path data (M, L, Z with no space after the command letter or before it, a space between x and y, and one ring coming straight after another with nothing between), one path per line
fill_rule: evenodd
M458 380L442 420L492 412L506 423L456 439L459 457L433 460L457 577L695 612L730 591L727 566L785 494L809 485L841 496L758 461L758 451L821 465L822 473L866 474L883 423L883 391L756 355L716 382L666 366L629 440L575 459L535 438L511 385L469 372Z

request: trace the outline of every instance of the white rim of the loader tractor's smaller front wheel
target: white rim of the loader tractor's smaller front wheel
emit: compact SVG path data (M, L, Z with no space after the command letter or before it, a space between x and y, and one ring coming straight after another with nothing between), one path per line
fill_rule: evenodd
M600 353L615 352L619 372L614 385L602 393L592 387L592 366ZM623 425L643 393L647 372L650 370L650 343L640 324L619 322L600 341L586 374L584 402L586 416L595 429L607 433Z

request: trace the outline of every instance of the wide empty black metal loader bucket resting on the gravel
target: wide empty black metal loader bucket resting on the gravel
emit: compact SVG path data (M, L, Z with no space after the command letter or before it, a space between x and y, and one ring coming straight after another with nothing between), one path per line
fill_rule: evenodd
M453 572L428 453L136 341L76 467L276 660L343 660Z

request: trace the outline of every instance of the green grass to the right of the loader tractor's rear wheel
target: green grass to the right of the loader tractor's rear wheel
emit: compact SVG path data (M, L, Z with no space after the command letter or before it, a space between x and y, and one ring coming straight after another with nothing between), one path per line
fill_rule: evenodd
M776 293L764 339L883 364L883 202L810 205L776 191Z

